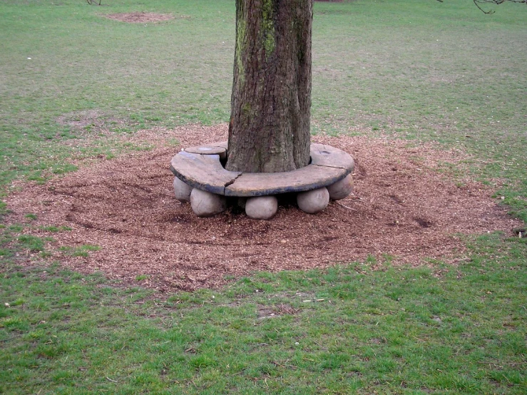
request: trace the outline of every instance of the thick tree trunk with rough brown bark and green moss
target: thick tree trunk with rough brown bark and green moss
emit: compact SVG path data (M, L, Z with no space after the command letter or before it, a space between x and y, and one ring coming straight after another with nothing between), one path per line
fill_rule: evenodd
M309 164L313 0L236 0L227 170Z

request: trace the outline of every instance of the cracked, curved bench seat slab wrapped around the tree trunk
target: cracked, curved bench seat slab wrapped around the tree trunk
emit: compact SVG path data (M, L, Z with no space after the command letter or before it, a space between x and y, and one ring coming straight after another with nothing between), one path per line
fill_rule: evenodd
M174 188L177 197L179 188L180 200L188 200L185 197L189 195L190 198L193 188L205 193L238 198L306 193L326 187L331 188L332 185L337 187L344 185L344 189L347 190L345 195L351 193L350 173L354 168L354 160L349 154L330 145L312 144L310 155L309 165L289 172L232 172L223 168L222 160L227 158L227 143L221 142L186 148L172 158L170 170L176 177ZM335 200L342 198L342 188L333 189L338 191L333 194L329 191L330 197ZM195 195L199 194L195 193ZM192 199L190 202L192 204ZM300 201L299 206L301 206ZM194 208L193 205L193 210Z

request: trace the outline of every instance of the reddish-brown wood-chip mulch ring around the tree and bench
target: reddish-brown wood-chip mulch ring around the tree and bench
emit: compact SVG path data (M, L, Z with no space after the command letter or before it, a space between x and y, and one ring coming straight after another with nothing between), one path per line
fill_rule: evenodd
M464 241L456 235L511 232L521 225L496 205L489 188L435 171L464 159L461 153L365 137L312 139L346 151L357 164L354 193L318 215L285 198L270 221L250 220L236 208L195 217L173 196L169 163L178 149L164 142L178 139L183 148L226 138L227 125L140 132L131 140L158 148L103 160L47 185L24 184L7 199L13 212L8 220L22 222L34 212L36 227L71 227L32 232L52 235L51 249L101 247L88 257L56 252L53 259L66 267L161 291L218 287L227 275L328 267L369 255L378 262L392 255L394 265L425 265L426 258L456 262L464 256Z

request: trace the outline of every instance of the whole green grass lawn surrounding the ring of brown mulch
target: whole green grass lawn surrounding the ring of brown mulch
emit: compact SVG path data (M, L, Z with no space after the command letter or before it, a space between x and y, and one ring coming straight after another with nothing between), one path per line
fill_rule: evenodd
M133 11L174 19L104 17ZM527 222L526 22L522 4L317 2L312 133L462 148L450 172ZM0 31L2 198L148 150L120 135L229 118L232 0L6 0ZM527 239L466 237L458 267L372 258L160 297L50 264L31 220L0 224L0 393L527 393Z

